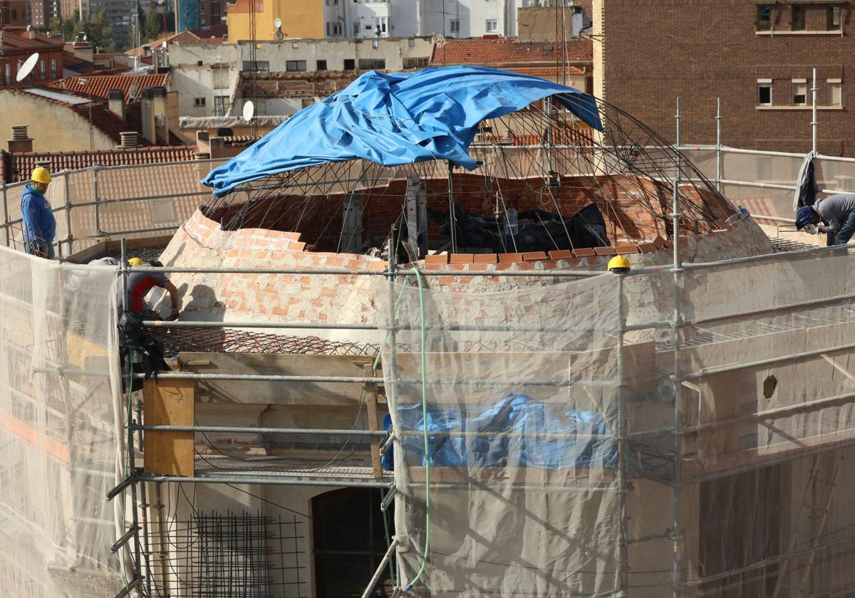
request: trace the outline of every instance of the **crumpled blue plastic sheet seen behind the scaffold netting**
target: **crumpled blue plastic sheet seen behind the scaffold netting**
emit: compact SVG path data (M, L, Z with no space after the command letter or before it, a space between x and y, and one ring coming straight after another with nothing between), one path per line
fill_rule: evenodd
M402 429L425 429L421 404L398 407L398 420ZM434 433L428 436L432 466L555 470L617 465L617 445L601 413L579 409L561 413L521 393L510 393L481 413L461 413L428 403L428 431ZM455 432L477 432L479 436L456 436ZM490 432L496 436L483 435ZM402 447L410 466L424 465L421 434L405 437ZM391 456L386 468L391 469L389 460Z

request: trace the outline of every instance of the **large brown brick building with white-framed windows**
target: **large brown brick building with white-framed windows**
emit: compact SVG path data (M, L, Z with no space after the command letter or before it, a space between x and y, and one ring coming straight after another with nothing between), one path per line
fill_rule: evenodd
M855 155L855 17L825 0L594 0L595 93L666 138L740 148L811 150L811 76L817 67L818 149ZM602 37L599 37L602 36Z

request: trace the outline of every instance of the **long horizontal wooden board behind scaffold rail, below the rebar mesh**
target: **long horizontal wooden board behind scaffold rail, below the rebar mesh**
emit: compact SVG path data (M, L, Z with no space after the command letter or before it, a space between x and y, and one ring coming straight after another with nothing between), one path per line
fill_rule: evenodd
M254 374L279 376L363 375L362 364L374 361L371 355L270 355L241 353L179 354L186 371L199 373ZM360 366L356 369L354 365ZM363 384L323 382L251 382L245 380L199 380L199 402L264 403L278 405L358 405Z

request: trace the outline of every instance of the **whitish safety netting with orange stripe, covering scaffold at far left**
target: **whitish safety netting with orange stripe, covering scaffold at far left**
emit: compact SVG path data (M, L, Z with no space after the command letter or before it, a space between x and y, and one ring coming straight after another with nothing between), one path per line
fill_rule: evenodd
M0 248L0 594L115 595L113 268ZM66 369L86 375L63 375ZM121 415L119 415L121 419ZM120 499L117 499L121 501ZM121 505L120 505L121 507Z

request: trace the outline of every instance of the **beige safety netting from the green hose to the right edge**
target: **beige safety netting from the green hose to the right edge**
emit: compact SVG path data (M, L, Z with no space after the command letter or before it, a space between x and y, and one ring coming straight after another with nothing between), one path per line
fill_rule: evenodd
M676 284L512 280L375 287L381 314L397 305L383 369L398 583L421 596L850 595L852 255Z

